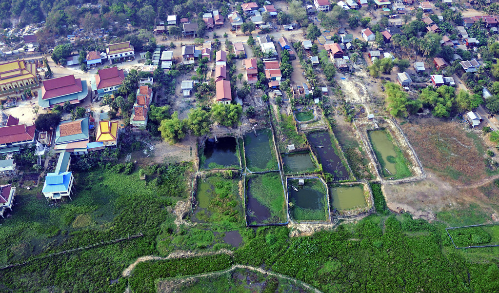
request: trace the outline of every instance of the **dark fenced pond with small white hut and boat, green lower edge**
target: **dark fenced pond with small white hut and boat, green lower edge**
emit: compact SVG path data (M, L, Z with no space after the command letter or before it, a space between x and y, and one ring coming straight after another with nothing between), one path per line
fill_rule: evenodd
M289 215L296 222L329 222L327 190L318 178L287 179Z

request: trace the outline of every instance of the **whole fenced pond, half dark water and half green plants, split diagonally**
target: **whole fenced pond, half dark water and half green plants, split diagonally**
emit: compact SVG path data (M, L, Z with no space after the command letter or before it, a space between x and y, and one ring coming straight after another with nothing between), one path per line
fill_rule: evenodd
M287 223L286 201L279 172L246 177L248 225Z

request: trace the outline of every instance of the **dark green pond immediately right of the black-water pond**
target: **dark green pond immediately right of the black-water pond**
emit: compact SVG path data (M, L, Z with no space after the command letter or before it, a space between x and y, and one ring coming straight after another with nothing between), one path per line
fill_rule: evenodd
M245 134L246 167L252 172L278 170L277 155L270 129Z

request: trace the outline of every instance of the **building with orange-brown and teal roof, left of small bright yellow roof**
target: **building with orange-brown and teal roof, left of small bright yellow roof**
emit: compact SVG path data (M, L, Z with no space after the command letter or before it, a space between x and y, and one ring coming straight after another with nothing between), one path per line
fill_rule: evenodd
M74 121L62 121L55 128L54 151L75 155L88 153L90 119L83 117Z

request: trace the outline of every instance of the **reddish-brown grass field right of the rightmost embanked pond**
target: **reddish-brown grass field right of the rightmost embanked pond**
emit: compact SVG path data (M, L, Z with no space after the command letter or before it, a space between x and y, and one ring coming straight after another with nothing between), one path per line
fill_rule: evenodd
M484 142L462 124L424 118L401 127L425 168L461 183L487 175Z

